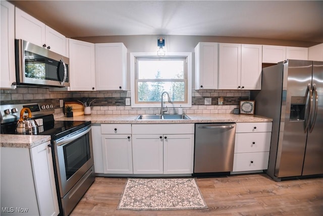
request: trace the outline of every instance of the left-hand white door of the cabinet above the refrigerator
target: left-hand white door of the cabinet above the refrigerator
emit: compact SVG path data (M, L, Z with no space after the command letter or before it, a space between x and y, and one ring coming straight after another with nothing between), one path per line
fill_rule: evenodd
M262 46L262 62L278 63L286 60L286 47L283 46Z

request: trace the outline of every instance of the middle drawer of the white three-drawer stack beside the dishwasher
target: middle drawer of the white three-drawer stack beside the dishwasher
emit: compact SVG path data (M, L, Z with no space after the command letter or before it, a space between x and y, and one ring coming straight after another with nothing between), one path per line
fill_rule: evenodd
M234 153L269 151L271 132L236 134Z

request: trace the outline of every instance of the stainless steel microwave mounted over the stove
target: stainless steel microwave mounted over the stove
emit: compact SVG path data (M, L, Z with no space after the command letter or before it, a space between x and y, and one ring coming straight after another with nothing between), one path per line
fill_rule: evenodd
M15 57L17 85L70 86L69 58L22 39L15 40Z

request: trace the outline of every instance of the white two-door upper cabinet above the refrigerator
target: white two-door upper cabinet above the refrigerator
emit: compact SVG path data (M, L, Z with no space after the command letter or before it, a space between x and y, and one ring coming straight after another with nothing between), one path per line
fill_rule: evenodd
M303 47L262 46L262 62L278 63L286 59L307 60L308 49Z

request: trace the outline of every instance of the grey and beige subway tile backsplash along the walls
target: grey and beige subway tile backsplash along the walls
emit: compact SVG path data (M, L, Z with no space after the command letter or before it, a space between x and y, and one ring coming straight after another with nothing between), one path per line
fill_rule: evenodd
M96 91L96 92L53 92L44 88L17 87L15 90L0 90L1 104L20 104L50 102L55 107L55 117L63 117L60 100L76 101L82 98L96 99L91 106L92 114L157 114L160 108L131 108L126 106L130 91ZM192 90L192 107L183 108L184 113L233 113L239 107L240 100L248 100L248 90ZM218 105L218 98L223 98L223 105ZM205 105L205 98L210 98L210 105ZM169 113L176 113L170 109Z

